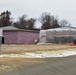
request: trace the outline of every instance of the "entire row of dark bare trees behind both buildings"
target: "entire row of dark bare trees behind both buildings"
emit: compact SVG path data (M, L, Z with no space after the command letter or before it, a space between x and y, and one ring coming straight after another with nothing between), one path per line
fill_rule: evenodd
M59 21L58 17L51 15L50 13L43 12L38 19L27 19L27 15L24 14L18 18L16 22L13 22L11 12L6 10L0 14L0 27L14 25L20 29L36 29L36 21L39 21L42 25L40 29L50 29L71 26L71 23L63 19Z

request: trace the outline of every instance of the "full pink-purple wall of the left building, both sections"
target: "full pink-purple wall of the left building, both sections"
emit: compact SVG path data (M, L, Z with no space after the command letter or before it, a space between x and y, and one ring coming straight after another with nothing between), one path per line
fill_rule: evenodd
M34 44L34 39L39 39L39 33L32 31L4 31L3 36L5 44Z

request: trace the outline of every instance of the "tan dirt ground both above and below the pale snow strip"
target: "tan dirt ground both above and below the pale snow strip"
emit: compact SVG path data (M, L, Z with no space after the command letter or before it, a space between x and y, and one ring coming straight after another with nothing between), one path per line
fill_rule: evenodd
M75 49L76 46L70 45L1 45L1 54L20 54L24 52L35 52L35 51L53 51L53 50L68 50ZM38 58L11 58L11 57L0 57L0 73L6 71L12 71L21 66L30 66L31 64L45 63L42 59Z

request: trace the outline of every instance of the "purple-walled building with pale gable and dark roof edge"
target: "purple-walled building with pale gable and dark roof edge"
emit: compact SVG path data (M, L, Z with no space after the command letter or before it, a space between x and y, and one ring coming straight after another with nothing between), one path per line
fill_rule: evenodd
M13 26L1 27L3 30L2 43L4 44L34 44L39 39L39 31L18 29Z

